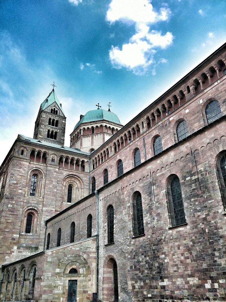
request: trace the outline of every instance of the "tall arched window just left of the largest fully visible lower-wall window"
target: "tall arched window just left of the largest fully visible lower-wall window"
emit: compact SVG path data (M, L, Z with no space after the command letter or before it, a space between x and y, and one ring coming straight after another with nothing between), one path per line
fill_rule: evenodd
M140 192L133 196L133 236L144 234L143 207Z

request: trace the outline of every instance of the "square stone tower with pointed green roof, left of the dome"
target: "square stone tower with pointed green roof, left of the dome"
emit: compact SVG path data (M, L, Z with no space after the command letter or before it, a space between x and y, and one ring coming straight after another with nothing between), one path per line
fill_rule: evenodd
M66 117L53 86L40 106L33 138L64 145L65 125Z

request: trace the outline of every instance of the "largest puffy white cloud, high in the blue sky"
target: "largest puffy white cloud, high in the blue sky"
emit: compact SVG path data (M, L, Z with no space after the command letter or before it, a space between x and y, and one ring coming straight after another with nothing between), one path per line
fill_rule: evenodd
M146 73L154 62L155 48L165 49L173 41L172 33L162 35L161 31L150 31L150 26L158 21L167 21L170 15L167 7L155 11L149 0L112 0L106 20L110 23L120 21L134 24L136 29L129 43L124 43L121 48L111 46L109 58L113 67L125 67L138 75Z

